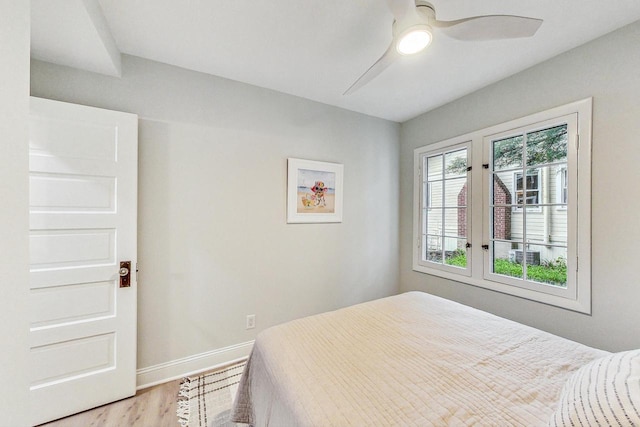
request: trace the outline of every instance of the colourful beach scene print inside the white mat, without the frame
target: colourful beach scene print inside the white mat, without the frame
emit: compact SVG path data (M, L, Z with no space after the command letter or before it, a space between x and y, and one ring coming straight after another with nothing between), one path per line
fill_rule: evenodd
M335 172L298 169L299 214L332 214L335 212Z

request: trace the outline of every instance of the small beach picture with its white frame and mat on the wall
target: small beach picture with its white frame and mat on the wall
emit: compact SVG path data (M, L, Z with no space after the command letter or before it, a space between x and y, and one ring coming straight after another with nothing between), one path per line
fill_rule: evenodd
M287 222L342 222L344 166L287 160Z

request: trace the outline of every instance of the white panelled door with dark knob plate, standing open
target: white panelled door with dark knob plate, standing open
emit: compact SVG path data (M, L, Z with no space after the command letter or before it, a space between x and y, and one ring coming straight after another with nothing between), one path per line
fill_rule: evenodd
M137 123L31 98L34 425L135 394ZM129 287L121 261L131 261Z

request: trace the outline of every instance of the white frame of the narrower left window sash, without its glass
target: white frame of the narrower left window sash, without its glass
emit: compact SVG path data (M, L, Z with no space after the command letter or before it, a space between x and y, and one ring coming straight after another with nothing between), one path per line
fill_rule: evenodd
M417 245L413 251L413 268L416 271L421 271L423 273L430 273L433 271L439 271L443 273L451 273L453 276L471 276L471 253L467 250L467 266L466 267L457 267L451 266L446 263L435 263L432 261L426 261L422 259L422 251L423 245L426 242L423 241L423 217L422 210L426 208L428 210L432 210L430 206L425 206L424 203L424 191L423 191L423 171L422 171L422 162L425 157L432 157L437 155L444 155L445 153L457 151L460 149L467 150L467 165L471 164L471 141L464 138L453 138L447 141L443 141L438 144L429 145L426 147L422 147L422 149L416 149L414 152L414 169L416 171L416 183L414 185L414 211L417 211L418 219L413 222L413 234L417 236ZM430 187L430 186L428 186ZM467 242L469 241L469 235L471 233L471 206L469 205L469 200L471 196L471 180L469 179L469 171L467 171L467 206L466 206L466 230L467 230ZM429 193L429 198L432 197L432 194ZM444 242L443 242L444 244Z

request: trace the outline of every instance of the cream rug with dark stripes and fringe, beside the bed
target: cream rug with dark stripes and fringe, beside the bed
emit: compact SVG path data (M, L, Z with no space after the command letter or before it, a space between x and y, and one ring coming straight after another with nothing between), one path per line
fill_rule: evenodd
M229 421L246 360L182 380L178 395L178 422L183 427L236 426ZM244 425L244 424L241 424Z

